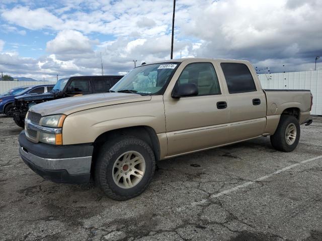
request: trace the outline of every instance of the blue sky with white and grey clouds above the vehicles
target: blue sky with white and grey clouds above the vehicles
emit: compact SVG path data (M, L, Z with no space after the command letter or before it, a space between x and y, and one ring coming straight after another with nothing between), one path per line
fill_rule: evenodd
M172 11L172 0L1 0L0 72L54 80L101 74L101 53L105 74L169 59ZM321 0L177 0L174 56L313 70L321 13Z

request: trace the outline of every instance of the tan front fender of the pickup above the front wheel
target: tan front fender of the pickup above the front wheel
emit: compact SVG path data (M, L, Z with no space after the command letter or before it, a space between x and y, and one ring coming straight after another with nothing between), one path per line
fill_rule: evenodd
M67 115L63 124L63 145L93 143L108 131L147 126L156 134L166 132L163 96L149 101L123 103L78 111Z

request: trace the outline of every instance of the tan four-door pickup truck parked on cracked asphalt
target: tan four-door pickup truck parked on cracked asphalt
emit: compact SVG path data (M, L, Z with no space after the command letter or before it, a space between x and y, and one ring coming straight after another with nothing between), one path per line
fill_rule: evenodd
M126 200L146 189L159 160L261 136L293 151L311 106L309 90L262 89L248 61L161 61L134 68L109 93L32 106L20 155L46 179L93 177Z

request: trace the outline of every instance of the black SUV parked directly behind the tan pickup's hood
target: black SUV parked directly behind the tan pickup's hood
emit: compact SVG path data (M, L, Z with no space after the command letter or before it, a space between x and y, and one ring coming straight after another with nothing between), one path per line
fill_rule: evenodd
M59 79L49 93L16 97L9 115L14 117L17 126L24 128L26 114L32 105L74 95L108 92L122 77L121 75L103 75L72 76Z

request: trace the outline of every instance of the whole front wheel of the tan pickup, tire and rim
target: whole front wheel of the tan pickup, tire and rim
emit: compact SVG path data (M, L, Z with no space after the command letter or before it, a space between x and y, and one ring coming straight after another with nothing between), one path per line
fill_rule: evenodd
M140 195L150 183L155 170L151 147L135 137L105 143L95 165L95 183L114 200Z

